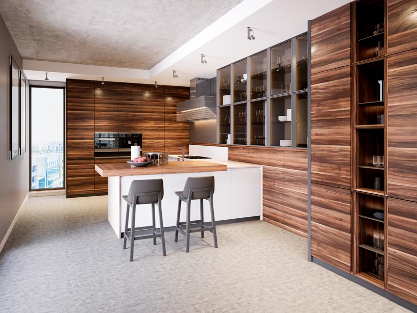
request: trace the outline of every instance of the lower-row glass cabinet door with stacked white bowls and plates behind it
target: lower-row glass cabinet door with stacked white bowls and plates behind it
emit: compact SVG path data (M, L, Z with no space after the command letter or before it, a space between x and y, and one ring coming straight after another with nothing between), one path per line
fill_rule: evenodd
M291 96L271 99L271 146L291 147Z

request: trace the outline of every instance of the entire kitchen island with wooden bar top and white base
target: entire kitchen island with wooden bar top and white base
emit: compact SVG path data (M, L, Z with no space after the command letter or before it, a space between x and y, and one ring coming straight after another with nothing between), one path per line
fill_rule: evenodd
M178 197L174 191L182 190L188 177L214 176L213 203L216 221L259 218L262 214L261 165L209 159L145 167L135 167L128 163L96 164L95 170L101 176L108 177L108 221L119 238L122 237L127 206L122 195L129 193L130 183L134 180L163 180L162 217L165 228L175 226ZM199 201L192 201L191 220L200 218L199 205ZM210 222L206 201L204 207L204 221ZM136 209L135 226L152 225L151 211L151 205L139 206ZM159 227L158 220L156 218L156 227ZM184 220L185 210L182 210L181 221Z

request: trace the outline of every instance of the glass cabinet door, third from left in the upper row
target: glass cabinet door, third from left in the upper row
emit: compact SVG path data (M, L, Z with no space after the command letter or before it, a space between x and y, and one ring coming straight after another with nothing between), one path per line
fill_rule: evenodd
M266 56L265 50L250 57L251 100L266 97Z

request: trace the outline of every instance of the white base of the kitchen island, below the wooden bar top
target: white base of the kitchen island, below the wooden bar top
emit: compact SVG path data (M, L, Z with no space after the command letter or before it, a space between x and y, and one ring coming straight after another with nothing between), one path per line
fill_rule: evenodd
M116 235L119 238L122 237L126 220L127 203L122 199L122 195L129 193L130 183L134 180L163 180L162 218L164 228L176 224L178 196L174 191L182 190L188 177L214 176L213 205L216 221L261 217L262 167L233 161L219 161L219 163L228 165L227 171L108 177L108 221ZM200 201L191 202L191 220L200 219L199 207ZM157 209L156 214L158 214ZM180 221L185 221L185 214L185 206L182 204ZM209 203L206 200L204 201L204 221L211 221ZM151 205L137 206L135 227L151 225ZM156 227L159 228L158 216L156 216Z

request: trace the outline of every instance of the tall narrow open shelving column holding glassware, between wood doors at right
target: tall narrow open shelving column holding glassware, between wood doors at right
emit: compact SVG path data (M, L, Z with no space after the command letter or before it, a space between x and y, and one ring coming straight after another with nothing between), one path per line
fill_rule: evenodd
M355 3L352 88L354 274L385 288L387 262L387 60L385 1ZM383 163L374 164L374 156Z

